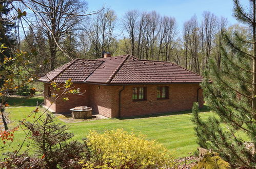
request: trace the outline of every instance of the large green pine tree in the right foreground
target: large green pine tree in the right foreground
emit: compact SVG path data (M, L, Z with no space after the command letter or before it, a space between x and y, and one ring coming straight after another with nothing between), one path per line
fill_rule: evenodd
M192 121L198 143L218 152L233 167L256 167L256 2L245 11L233 0L234 17L250 30L249 37L238 32L223 37L222 69L211 60L202 83L204 96L214 116L202 120L197 103ZM213 80L209 82L209 77Z

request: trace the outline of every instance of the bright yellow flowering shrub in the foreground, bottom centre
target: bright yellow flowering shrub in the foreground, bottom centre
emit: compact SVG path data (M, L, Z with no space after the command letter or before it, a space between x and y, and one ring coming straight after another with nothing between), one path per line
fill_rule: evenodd
M161 144L122 129L103 134L90 132L86 140L89 156L84 168L170 168L172 154Z

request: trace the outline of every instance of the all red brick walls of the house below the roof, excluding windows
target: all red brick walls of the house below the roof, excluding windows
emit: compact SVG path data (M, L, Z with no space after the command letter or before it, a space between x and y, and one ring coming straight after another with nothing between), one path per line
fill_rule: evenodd
M169 87L168 99L157 99L156 88ZM132 88L146 87L147 100L133 101ZM127 85L127 86L104 86L86 83L74 83L74 88L80 88L82 95L67 94L58 98L51 106L56 113L70 112L69 109L84 105L92 107L93 112L107 117L121 117L146 115L164 112L190 110L193 102L197 100L198 84L171 84L171 85ZM124 88L124 89L123 89ZM121 108L119 108L119 93L121 92ZM55 91L55 93L57 93ZM68 101L63 101L68 97ZM49 106L53 98L47 97L47 84L45 85L45 105ZM199 104L203 107L202 89L199 90Z

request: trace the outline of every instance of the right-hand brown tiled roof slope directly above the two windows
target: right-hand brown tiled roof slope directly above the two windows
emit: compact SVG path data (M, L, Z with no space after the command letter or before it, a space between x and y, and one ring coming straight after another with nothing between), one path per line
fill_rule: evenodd
M129 57L111 83L199 83L203 77L167 61Z

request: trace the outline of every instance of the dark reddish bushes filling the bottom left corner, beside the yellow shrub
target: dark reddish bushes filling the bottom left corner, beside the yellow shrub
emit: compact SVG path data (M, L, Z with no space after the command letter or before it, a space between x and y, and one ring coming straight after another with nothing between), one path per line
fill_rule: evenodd
M82 168L78 162L87 154L85 143L69 141L73 134L67 132L65 125L55 123L52 115L24 125L30 131L34 156L7 153L0 168Z

